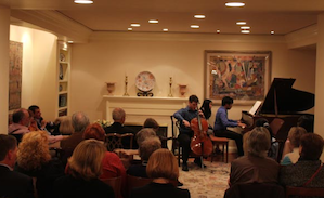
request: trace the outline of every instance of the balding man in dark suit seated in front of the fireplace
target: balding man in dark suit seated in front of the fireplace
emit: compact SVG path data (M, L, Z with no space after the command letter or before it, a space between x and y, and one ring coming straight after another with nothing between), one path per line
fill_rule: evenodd
M132 133L132 134L135 134L132 129L124 126L126 113L122 108L115 108L112 113L112 116L113 116L114 123L112 123L109 127L105 128L106 134L107 133L118 133L118 134ZM121 144L122 144L124 148L129 149L130 148L130 138L122 138ZM133 148L138 148L135 141L133 142Z

